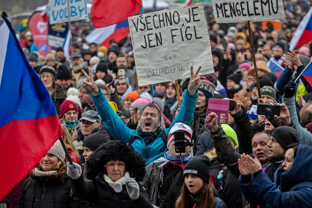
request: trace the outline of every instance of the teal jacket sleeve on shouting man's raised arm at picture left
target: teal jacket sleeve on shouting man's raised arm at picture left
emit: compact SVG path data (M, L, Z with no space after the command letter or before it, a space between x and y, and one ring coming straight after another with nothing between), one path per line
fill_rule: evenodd
M124 122L121 121L105 99L103 92L100 89L99 91L100 93L96 96L93 96L92 92L90 94L96 110L101 116L101 120L116 140L128 142L131 134L136 130L129 129Z

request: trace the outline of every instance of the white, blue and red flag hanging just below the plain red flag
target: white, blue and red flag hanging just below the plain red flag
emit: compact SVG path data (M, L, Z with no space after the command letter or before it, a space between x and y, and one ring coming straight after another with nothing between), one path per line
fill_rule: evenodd
M110 47L110 40L121 41L130 33L128 19L107 27L95 28L85 37L86 42Z

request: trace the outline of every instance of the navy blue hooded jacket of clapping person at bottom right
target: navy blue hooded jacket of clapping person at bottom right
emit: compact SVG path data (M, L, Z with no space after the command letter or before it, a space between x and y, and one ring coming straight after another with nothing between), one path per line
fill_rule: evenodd
M272 183L262 170L239 176L241 190L247 201L267 207L311 207L312 147L299 142L293 166L284 172L279 166Z

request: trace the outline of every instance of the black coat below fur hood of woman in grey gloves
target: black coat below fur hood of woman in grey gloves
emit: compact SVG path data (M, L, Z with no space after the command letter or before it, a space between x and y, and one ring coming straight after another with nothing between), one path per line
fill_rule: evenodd
M78 179L71 178L73 191L78 197L90 202L91 208L153 208L149 200L149 195L139 184L140 194L137 200L132 200L129 197L126 186L122 186L122 191L117 193L104 180L103 173L99 172L95 179L88 182L83 176Z

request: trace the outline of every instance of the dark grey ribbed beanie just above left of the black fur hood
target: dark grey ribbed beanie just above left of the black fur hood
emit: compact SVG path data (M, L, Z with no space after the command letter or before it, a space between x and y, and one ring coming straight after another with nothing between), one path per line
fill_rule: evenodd
M97 150L101 145L110 141L110 134L105 131L98 131L94 134L90 134L89 136L85 137L83 140L82 146L89 148L92 151Z

